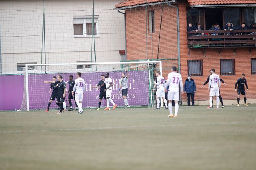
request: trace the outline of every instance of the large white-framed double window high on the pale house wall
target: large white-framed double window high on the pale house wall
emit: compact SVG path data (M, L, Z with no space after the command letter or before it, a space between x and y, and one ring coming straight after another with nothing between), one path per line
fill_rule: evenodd
M75 37L91 37L92 16L74 16ZM98 16L94 16L94 35L98 36Z

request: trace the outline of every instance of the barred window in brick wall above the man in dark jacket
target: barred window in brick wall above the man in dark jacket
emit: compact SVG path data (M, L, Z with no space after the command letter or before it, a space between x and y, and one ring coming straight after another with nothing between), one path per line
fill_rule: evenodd
M188 60L188 74L203 76L203 60Z

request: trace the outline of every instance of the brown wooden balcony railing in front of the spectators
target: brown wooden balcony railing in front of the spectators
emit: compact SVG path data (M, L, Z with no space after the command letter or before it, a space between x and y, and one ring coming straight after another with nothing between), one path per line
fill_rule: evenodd
M255 32L256 30L188 31L188 48L256 47Z

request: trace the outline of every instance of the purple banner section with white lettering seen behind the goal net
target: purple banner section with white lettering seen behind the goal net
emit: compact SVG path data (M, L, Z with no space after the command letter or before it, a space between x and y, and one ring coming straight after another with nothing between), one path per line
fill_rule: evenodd
M111 72L110 78L112 78L112 84L116 84L112 87L112 99L118 106L123 106L124 101L122 94L119 94L119 79L122 72ZM99 89L91 89L91 86L96 86L100 81L100 75L104 73L82 73L82 78L85 80L86 92L83 98L83 107L97 107L99 102ZM62 73L63 80L68 81L68 76L73 75L76 79L76 73ZM41 74L41 75L29 75L29 108L30 109L46 109L50 100L51 94L49 94L50 84L43 83L43 81L51 81L53 76L57 74ZM68 88L68 86L67 86ZM130 71L128 79L128 95L127 99L129 105L149 105L149 77L147 71ZM55 99L56 101L56 99ZM50 108L57 108L55 101L52 102ZM74 100L72 101L73 107L75 107ZM65 98L66 105L68 104L68 93ZM106 101L102 100L102 107L106 106ZM110 103L110 107L112 104ZM24 108L23 108L24 109Z

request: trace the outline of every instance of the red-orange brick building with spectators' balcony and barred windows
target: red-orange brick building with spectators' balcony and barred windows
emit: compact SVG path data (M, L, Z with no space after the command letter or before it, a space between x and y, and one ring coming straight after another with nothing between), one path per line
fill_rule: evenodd
M246 74L248 82L248 103L256 103L255 34L241 33L239 30L228 33L219 31L219 41L216 41L212 38L213 32L208 31L216 22L220 27L227 22L232 22L234 27L242 23L250 27L255 22L255 7L256 0L147 0L147 22L144 0L126 0L116 5L116 10L125 14L127 60L163 60L165 78L172 65L179 66L183 82L188 73L196 82L196 104L207 105L209 92L207 87L202 89L201 86L211 68L215 68L227 84L221 88L224 104L236 103L235 81L242 73ZM207 31L188 34L188 22L193 25L200 22ZM204 36L195 36L198 33L204 33ZM182 100L186 100L186 95L182 95Z

